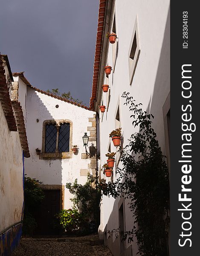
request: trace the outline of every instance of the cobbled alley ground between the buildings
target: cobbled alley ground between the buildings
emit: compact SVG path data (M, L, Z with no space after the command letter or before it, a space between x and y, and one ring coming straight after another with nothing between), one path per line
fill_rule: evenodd
M22 238L12 256L112 256L98 236Z

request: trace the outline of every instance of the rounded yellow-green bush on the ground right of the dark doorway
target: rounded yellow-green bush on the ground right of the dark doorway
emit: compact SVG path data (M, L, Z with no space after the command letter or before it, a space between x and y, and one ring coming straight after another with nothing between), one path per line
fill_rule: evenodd
M84 222L83 214L76 209L63 209L55 215L55 218L58 220L57 226L66 233L80 230Z

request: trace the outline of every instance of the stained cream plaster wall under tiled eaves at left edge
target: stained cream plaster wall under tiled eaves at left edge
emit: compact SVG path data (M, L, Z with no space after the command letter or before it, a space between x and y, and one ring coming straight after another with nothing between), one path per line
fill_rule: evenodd
M0 232L21 221L23 158L17 131L9 131L0 103Z

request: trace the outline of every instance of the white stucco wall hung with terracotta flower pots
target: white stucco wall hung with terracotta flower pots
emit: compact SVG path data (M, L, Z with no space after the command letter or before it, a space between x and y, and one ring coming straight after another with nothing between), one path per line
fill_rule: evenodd
M131 113L128 111L128 107L123 105L125 101L121 98L121 95L124 91L130 92L130 96L133 96L136 103L142 103L143 110L154 115L153 127L157 132L157 138L162 152L166 154L162 106L170 92L169 0L116 0L115 11L119 50L114 73L112 71L109 75L110 104L108 112L105 112L104 115L101 112L99 113L101 166L107 160L105 154L110 143L109 134L116 128L115 116L118 104L120 108L120 126L124 135L124 145L127 144L130 134L137 131L132 126L133 120L130 119ZM136 16L138 17L141 52L135 75L130 85L128 51ZM112 44L109 44L106 60L106 64L111 67L113 67L112 47ZM107 82L107 79L104 78L104 84L107 84ZM107 93L102 93L101 102L102 97L104 105L107 107ZM101 105L101 102L99 102L99 105ZM111 141L112 151L115 152L116 148ZM105 178L104 175L103 177ZM110 181L110 178L106 179ZM113 180L115 179L114 171ZM119 227L118 201L119 199L114 200L112 197L103 197L103 227L105 228L107 225L107 230L113 230ZM128 206L125 207L126 230L133 228L133 218L131 216L130 209ZM128 244L126 245L128 247ZM137 245L133 244L133 255L135 255L136 251ZM114 255L117 256L117 252Z

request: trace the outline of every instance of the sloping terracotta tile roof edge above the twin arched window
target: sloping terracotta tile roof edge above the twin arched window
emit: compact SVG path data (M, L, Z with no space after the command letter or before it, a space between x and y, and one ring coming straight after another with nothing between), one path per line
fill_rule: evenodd
M36 88L36 87L33 87L33 86L29 83L29 81L26 79L26 77L24 76L23 73L24 73L24 72L20 72L20 73L15 72L15 73L12 74L12 76L14 76L14 77L19 76L20 79L21 79L27 86L29 86L29 87L32 88L33 90L38 91L39 93L43 93L43 94L48 95L48 96L51 96L51 97L53 97L53 98L55 98L55 99L59 99L59 100L64 101L64 102L68 102L68 103L70 103L70 104L72 104L72 105L75 105L75 106L78 106L78 107L80 107L80 108L84 108L84 109L90 110L90 108L88 108L88 107L85 106L85 105L78 104L78 103L73 102L73 101L71 101L71 100L65 99L65 98L63 98L63 97L61 97L61 96L56 96L56 95L54 95L54 94L52 94L52 93L48 93L48 92L46 92L46 91L40 90L40 89L38 89L38 88Z

